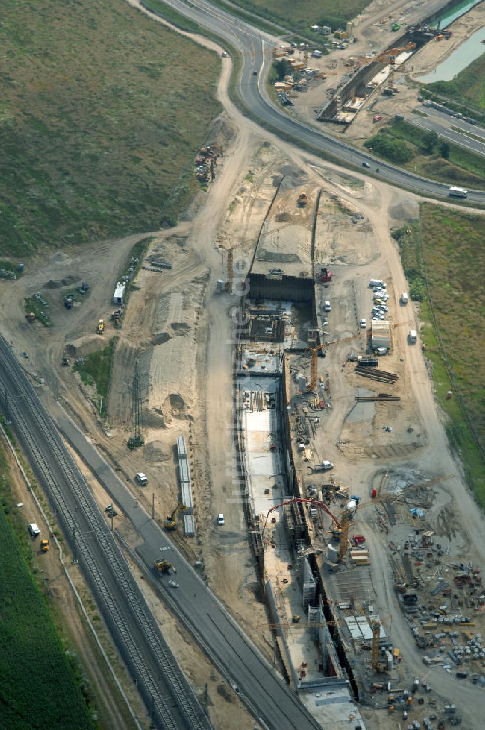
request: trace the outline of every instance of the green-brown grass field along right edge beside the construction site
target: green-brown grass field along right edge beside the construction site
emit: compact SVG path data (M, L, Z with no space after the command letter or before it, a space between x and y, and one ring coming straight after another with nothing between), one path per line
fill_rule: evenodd
M411 298L422 299L422 340L432 361L436 395L449 417L446 431L462 460L467 483L485 507L485 464L480 450L485 449L484 219L438 205L423 204L421 210L421 226L403 226L394 236ZM449 390L451 400L446 399Z

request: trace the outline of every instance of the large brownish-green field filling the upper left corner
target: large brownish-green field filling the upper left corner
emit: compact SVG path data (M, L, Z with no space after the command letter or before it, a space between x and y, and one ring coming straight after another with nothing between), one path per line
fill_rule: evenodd
M0 257L174 223L220 59L123 0L4 0Z

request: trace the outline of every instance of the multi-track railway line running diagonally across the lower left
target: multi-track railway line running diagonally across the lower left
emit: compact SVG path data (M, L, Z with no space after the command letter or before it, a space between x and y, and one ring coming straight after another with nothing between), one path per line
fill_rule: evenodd
M167 730L210 729L88 485L1 336L0 389L15 434L50 498L152 722Z

